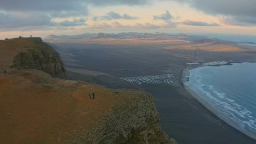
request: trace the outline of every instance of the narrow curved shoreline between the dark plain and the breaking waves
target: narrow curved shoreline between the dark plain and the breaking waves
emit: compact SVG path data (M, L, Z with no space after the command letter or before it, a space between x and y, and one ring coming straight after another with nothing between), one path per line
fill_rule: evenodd
M197 67L198 68L198 67ZM181 78L181 83L183 85L183 88L193 97L196 99L196 101L198 101L200 104L202 104L205 108L207 108L209 111L211 111L211 113L213 113L214 115L216 115L217 117L219 117L219 119L223 120L225 123L227 123L229 126L232 126L233 128L237 129L238 131L240 131L241 133L247 135L250 138L253 138L254 140L256 140L256 136L245 131L244 129L241 129L240 127L236 126L234 123L230 122L228 120L228 118L226 118L221 112L219 112L217 109L215 109L214 107L212 107L210 104L208 104L207 101L205 101L204 99L202 99L198 94L196 94L192 89L190 89L188 86L185 85L186 82L188 82L187 77L189 77L190 73L189 70L191 70L193 68L185 68L182 71L182 78Z

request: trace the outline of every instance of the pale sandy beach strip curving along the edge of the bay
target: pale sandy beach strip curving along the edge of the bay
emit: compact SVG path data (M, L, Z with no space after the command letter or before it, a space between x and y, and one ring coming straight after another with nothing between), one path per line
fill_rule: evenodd
M238 129L239 131L243 132L244 134L248 135L249 137L255 138L254 135L250 134L249 132L244 131L244 129L241 129L241 128L239 128L237 125L234 125L234 123L230 122L230 121L228 120L228 118L226 118L226 116L224 116L222 113L220 113L220 111L218 111L216 108L212 107L210 104L208 104L208 102L206 102L204 99L202 99L200 96L198 96L194 91L192 91L192 89L190 89L188 86L186 86L186 85L185 85L185 82L187 82L187 81L189 80L188 77L189 77L189 69L186 68L186 69L183 70L182 79L181 79L184 88L185 88L186 91L187 91L191 96L193 96L193 98L195 98L200 104L202 104L205 108L207 108L209 111L211 111L211 113L213 113L214 115L216 115L217 117L219 117L221 120L223 120L223 121L226 123L226 126L225 126L225 124L219 124L219 125L223 125L223 126L222 126L222 127L223 127L223 130L224 130L224 129L227 130L227 129L226 129L227 126L231 125L232 127L236 128L236 129ZM229 126L229 127L231 127L231 126ZM237 130L234 129L234 128L228 129L228 132L229 132L229 133L232 133L232 130L233 130L233 131L237 131ZM241 133L241 132L239 132L239 131L234 132L234 134L237 134L237 136L238 136L238 135L241 135L241 134L239 134L239 133ZM242 134L242 135L243 135L243 134ZM253 140L253 141L255 141L255 140ZM255 143L255 142L254 142L254 143Z

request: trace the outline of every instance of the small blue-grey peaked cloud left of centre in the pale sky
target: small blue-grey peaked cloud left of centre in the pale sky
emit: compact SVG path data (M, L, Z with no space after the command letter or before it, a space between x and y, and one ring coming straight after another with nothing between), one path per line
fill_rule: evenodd
M98 21L98 20L110 21L110 20L114 20L114 19L128 19L128 20L131 20L131 19L138 19L138 17L130 16L130 15L126 14L126 13L123 14L123 15L120 15L117 12L111 11L111 12L106 13L103 16L94 16L92 19L94 21Z

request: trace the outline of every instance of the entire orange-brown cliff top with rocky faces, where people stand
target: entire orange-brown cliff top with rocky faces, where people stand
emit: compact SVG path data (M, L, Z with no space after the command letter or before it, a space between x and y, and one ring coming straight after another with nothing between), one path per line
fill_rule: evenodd
M65 77L63 63L38 38L1 41L0 55L1 143L176 144L152 95L53 78Z

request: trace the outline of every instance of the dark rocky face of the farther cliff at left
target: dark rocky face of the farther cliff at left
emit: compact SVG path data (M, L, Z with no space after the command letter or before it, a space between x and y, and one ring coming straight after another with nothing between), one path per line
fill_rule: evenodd
M52 77L66 79L64 64L59 53L44 43L41 38L30 38L29 40L34 45L27 46L26 51L16 55L11 67L42 70Z

